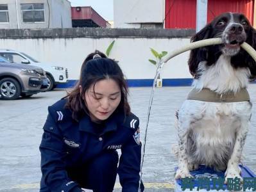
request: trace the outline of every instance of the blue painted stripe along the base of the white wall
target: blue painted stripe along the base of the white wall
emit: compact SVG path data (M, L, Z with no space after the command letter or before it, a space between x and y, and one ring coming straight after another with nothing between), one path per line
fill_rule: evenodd
M58 84L57 88L72 88L78 80L71 79L64 84ZM128 79L129 87L152 86L153 79ZM163 79L162 86L190 86L192 79Z

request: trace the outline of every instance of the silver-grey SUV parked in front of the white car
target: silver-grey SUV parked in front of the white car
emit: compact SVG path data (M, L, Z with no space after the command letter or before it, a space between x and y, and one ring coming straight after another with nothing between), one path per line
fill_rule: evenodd
M10 63L0 57L0 98L6 100L30 97L47 89L46 72L42 68Z

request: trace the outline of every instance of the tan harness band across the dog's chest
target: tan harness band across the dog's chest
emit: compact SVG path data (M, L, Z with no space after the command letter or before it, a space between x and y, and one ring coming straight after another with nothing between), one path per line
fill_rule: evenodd
M208 88L198 91L195 88L189 92L188 100L202 100L209 102L241 102L250 101L250 95L246 88L241 88L239 92L216 93Z

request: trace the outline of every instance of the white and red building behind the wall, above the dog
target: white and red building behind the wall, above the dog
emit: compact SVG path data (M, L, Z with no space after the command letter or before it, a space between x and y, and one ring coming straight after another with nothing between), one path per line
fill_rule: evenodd
M196 29L201 1L207 2L207 22L224 12L237 12L256 27L255 0L114 0L114 27Z

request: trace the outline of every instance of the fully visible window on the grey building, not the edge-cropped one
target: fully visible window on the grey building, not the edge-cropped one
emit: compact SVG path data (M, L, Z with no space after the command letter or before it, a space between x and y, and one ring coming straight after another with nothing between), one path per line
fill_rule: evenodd
M23 22L44 22L44 3L21 4Z

